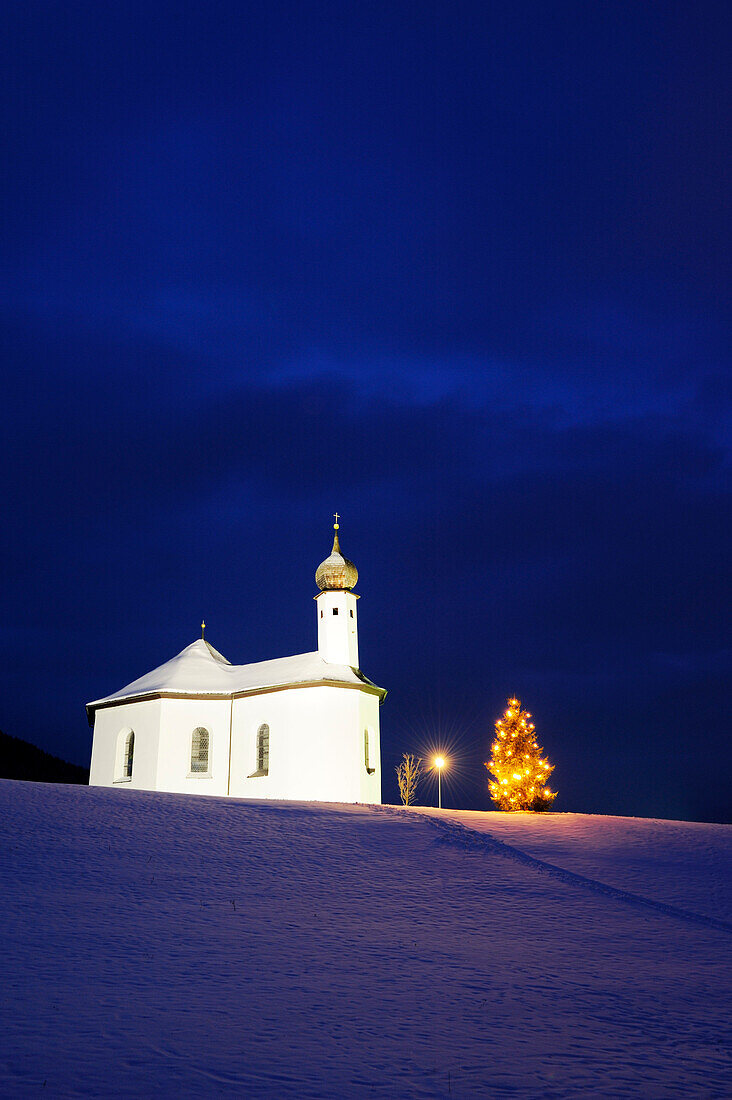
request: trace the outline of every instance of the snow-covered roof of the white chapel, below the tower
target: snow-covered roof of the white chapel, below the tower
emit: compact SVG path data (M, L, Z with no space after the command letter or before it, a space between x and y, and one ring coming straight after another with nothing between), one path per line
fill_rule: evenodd
M236 695L243 692L288 688L298 684L342 683L354 688L371 688L383 698L383 688L376 688L349 664L331 664L319 653L296 653L274 661L254 664L231 664L203 638L186 646L165 664L153 669L127 688L87 704L91 712L108 703L146 695Z

